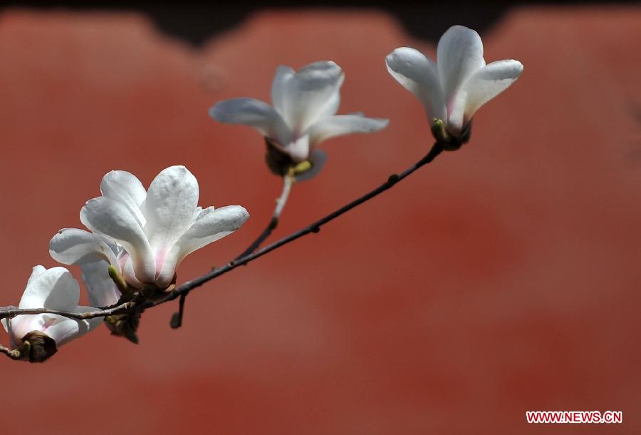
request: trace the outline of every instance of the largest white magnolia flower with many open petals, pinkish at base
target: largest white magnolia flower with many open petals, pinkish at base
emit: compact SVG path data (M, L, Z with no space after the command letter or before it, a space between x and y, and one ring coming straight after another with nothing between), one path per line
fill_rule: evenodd
M108 264L129 285L164 289L184 257L231 234L249 218L239 205L215 210L198 207L198 182L184 166L162 170L147 191L131 173L114 170L105 175L100 191L103 196L89 200L80 210L80 221L93 234L61 230L49 243L51 256L60 262L98 262L83 267L94 301L113 301L118 296L118 290L106 282L106 270L100 272ZM100 274L95 275L96 271Z

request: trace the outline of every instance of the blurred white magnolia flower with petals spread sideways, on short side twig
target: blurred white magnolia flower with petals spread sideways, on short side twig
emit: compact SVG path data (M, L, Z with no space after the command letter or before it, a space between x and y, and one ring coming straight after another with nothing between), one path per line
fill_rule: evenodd
M335 115L344 78L343 70L332 61L310 63L296 72L278 66L271 84L273 107L254 98L234 98L219 101L209 114L222 123L256 128L293 163L311 160L316 165L323 159L315 148L321 140L378 131L389 122L360 113Z

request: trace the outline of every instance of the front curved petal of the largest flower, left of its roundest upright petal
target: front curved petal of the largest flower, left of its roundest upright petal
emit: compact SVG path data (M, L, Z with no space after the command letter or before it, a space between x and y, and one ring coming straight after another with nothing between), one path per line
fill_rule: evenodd
M91 231L123 245L132 257L138 279L153 282L156 267L147 235L123 203L105 197L89 200L80 210L80 221Z

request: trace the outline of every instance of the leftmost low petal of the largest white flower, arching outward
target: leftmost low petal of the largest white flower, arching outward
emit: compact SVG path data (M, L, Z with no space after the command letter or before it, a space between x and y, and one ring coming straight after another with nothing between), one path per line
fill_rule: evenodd
M118 267L115 246L110 247L99 235L77 228L63 228L49 242L49 254L65 265L81 265L100 260Z

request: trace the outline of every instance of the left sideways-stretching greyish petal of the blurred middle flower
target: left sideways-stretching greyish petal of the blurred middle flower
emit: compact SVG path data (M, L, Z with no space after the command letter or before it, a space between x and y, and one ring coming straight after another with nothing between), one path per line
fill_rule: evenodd
M251 126L280 143L291 141L291 131L280 114L269 104L254 98L219 101L209 109L216 121Z

